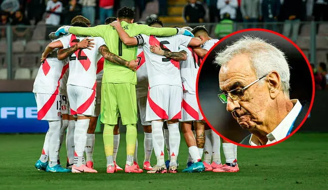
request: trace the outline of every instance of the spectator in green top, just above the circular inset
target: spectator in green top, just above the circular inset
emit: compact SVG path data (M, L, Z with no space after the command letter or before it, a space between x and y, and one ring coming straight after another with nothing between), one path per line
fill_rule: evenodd
M223 19L215 27L215 35L219 39L231 34L234 31L233 20L230 18L229 13L224 13Z

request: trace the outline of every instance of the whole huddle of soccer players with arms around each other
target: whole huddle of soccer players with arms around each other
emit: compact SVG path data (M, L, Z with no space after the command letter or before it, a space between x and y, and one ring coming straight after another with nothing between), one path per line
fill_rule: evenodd
M87 18L75 16L71 26L50 34L52 43L42 55L33 87L38 119L49 122L35 167L97 173L92 155L100 119L107 173L123 170L116 163L121 120L127 127L125 172L142 173L136 155L139 110L145 132L142 168L147 173L177 173L179 122L189 147L182 172L238 172L237 145L222 139L226 157L222 165L220 138L203 120L196 99L200 62L218 40L209 37L203 26L165 28L159 20L147 26L133 23L133 18L128 7L95 27ZM59 162L65 132L66 168ZM157 163L152 167L153 149Z

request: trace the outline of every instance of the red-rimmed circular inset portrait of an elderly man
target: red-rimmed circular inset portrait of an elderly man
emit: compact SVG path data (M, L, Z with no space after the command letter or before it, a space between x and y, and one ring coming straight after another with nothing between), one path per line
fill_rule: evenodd
M205 57L197 98L222 138L265 147L293 135L308 117L314 77L290 39L270 30L241 30L222 38Z

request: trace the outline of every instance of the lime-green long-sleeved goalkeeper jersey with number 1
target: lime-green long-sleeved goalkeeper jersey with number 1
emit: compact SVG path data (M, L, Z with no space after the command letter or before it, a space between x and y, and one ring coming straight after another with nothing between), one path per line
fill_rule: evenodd
M121 27L130 35L138 34L155 35L155 36L172 36L177 34L176 28L154 28L147 25L138 25L136 23L121 22ZM119 39L114 27L110 25L98 25L95 27L71 27L69 32L72 34L84 36L99 36L105 39L106 45L110 52L118 55L122 59L130 61L136 59L137 46L127 46ZM125 83L130 82L136 85L136 72L127 67L115 64L108 60L104 63L104 75L102 83Z

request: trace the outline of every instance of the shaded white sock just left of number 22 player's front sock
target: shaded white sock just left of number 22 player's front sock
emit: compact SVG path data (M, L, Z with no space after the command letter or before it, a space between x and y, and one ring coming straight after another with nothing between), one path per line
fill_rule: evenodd
M66 132L66 151L67 151L67 162L73 164L74 162L74 120L68 121L68 128Z

